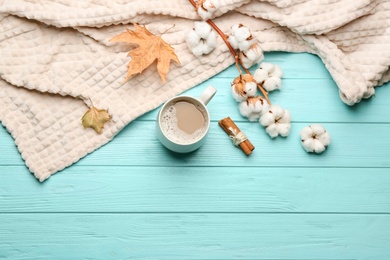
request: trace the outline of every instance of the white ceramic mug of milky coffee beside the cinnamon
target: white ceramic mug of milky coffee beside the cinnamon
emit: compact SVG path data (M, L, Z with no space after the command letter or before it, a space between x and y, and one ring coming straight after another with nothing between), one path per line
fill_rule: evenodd
M198 98L191 96L176 96L165 102L157 116L156 132L160 142L169 150L177 153L188 153L201 147L206 140L210 128L210 115L206 105L216 92L217 90L213 86L209 86ZM196 132L197 134L188 136L188 138L187 136L184 136L186 133L176 131L176 128L175 131L172 132L169 130L170 126L167 126L167 124L172 125L173 122L173 124L176 124L174 127L178 127L177 123L174 122L174 118L172 119L172 117L170 117L170 119L166 119L168 113L167 109L171 109L178 102L188 102L194 105L203 116L203 127ZM171 114L169 114L169 116L171 116ZM187 115L184 114L184 116ZM175 117L175 115L173 115L173 117Z

